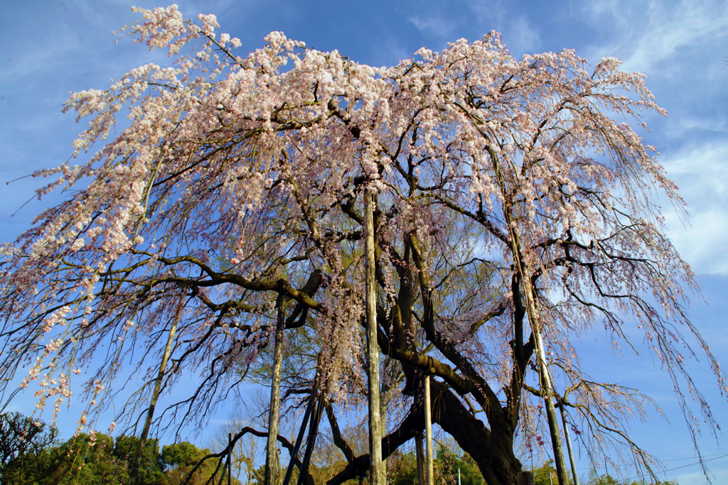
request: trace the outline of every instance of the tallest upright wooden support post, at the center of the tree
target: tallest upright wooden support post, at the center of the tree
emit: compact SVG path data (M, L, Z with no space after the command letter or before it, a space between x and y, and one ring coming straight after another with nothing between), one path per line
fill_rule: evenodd
M369 377L369 483L385 485L384 467L381 463L381 414L379 408L379 343L376 341L376 265L374 261L373 194L364 191L365 225L365 280L367 320L367 364Z

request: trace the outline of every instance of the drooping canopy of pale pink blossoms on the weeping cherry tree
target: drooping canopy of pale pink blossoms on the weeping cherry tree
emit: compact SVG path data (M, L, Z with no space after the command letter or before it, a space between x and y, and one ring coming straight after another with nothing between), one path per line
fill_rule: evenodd
M692 272L652 198L666 194L678 210L683 201L655 149L620 121L664 114L641 74L614 58L590 71L571 50L515 60L496 33L389 68L280 32L240 57L213 15L194 23L175 6L136 10L144 20L124 31L174 62L66 103L91 117L75 156L106 140L126 109L130 125L84 164L37 173L58 175L39 197L65 188L66 200L1 246L4 385L27 370L20 387L57 412L86 366L92 411L120 398L117 376L138 372L147 384L116 404L132 417L175 321L165 390L200 375L159 417L181 424L232 398L267 345L282 293L287 327L314 330L318 364L337 383L331 400L362 396L369 187L382 352L408 379L407 369L430 369L462 406L474 398L483 433L496 432L494 409L526 441L541 426L537 402L521 396L538 382L526 382L533 344L515 264L534 287L573 422L589 429L582 439L601 442L601 430L626 439L620 417L641 401L582 373L570 339L595 325L629 340L625 321L637 321L676 386L685 378L695 391L676 346L692 353L684 326L724 388L684 313Z

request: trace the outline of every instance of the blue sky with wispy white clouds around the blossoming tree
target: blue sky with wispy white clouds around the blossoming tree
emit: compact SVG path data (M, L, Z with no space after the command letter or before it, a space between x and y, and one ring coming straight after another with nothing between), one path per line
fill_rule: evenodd
M130 39L114 43L118 36L111 32L137 20L130 12L134 4L166 6L0 0L2 182L55 167L71 155L71 141L83 126L60 112L69 91L104 89L130 68L165 63L164 53L132 45ZM178 5L185 17L217 15L218 31L239 37L245 51L260 47L270 31L283 31L309 47L338 49L359 63L392 65L419 47L442 50L448 41L473 41L496 30L515 57L575 49L592 65L614 56L624 61L625 70L645 73L657 103L668 111L667 118L646 118L652 129L646 142L662 152L660 161L689 204L687 221L669 204L663 211L668 235L703 289L702 297L692 299L691 316L719 361L728 362L728 2L183 0ZM26 178L0 185L0 241L15 239L33 215L57 200L51 195L21 209L40 183ZM638 387L665 409L669 424L654 416L647 425L634 425L636 441L669 460L665 468L695 462L668 377L652 358L626 352L614 356L601 334L585 337L582 347L593 374ZM717 420L728 426L727 398L717 392L710 369L705 362L689 367ZM708 430L700 444L705 455L728 450ZM728 483L728 457L708 465L713 483ZM681 485L705 483L697 466L668 471L666 478Z

